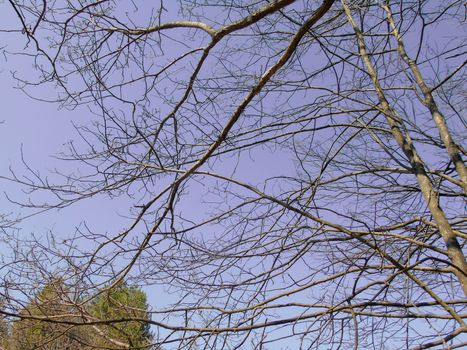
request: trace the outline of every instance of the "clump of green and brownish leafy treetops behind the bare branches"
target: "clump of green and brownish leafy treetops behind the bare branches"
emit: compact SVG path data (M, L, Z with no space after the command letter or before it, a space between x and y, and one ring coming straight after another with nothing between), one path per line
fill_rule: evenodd
M146 295L141 289L125 283L112 289L106 288L83 309L79 308L82 307L79 303L67 299L69 294L61 280L46 285L36 295L35 300L21 311L22 318L10 324L11 334L3 344L5 349L150 348L152 336L148 323L144 322L149 319L149 314ZM86 317L83 318L83 314ZM84 319L108 320L109 323L83 325ZM66 322L81 325L70 325ZM0 323L0 341L1 334Z

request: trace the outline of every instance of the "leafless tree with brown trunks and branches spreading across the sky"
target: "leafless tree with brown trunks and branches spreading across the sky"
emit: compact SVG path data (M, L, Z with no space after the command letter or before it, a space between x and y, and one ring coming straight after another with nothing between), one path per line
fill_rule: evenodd
M79 173L11 175L56 196L27 206L123 196L132 223L23 244L5 288L46 260L87 292L165 286L164 349L467 344L464 2L8 3L20 86L95 115Z

